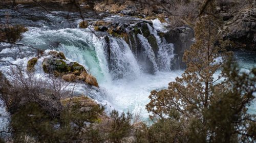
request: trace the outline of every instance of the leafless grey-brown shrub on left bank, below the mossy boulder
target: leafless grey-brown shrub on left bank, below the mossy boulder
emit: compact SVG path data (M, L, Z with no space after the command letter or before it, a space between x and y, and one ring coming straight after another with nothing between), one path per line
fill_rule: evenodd
M70 86L69 82L51 74L48 80L44 80L34 73L26 73L14 67L10 68L6 75L8 80L3 75L0 80L0 98L10 112L15 112L19 106L36 102L56 117L62 110L61 99L72 98L76 85L74 83Z

